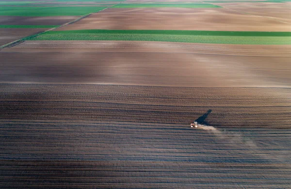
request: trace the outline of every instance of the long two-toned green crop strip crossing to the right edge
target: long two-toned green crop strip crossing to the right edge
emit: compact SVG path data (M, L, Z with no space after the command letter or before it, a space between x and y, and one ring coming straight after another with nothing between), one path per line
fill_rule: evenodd
M291 45L291 32L256 31L48 31L26 40L167 41L215 44Z

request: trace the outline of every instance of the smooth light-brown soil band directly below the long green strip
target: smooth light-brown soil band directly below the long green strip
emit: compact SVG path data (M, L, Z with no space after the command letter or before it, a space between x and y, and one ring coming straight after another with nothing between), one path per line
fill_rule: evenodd
M27 41L0 54L1 59L7 60L2 63L6 71L1 73L0 80L291 87L290 48L288 45Z

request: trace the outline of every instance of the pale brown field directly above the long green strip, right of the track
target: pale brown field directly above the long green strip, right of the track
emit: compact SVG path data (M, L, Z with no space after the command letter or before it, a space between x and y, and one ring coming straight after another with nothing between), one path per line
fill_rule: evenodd
M109 8L58 31L92 29L291 31L289 24L279 20L225 8Z

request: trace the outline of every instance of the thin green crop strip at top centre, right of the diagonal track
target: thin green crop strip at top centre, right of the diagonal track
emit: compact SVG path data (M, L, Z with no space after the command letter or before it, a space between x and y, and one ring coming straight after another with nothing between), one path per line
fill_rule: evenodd
M182 8L218 8L209 3L123 3L113 8L151 8L151 7L182 7Z

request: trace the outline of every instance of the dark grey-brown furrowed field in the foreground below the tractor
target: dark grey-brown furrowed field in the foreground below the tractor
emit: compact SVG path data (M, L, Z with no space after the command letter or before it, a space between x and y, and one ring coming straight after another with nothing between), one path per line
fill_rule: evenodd
M0 133L1 188L290 185L290 129L214 134L175 124L1 120Z

